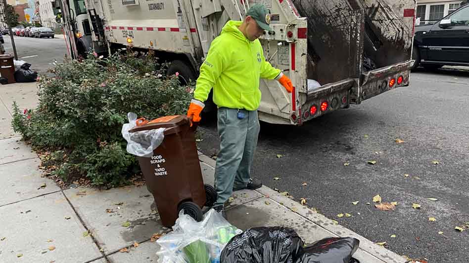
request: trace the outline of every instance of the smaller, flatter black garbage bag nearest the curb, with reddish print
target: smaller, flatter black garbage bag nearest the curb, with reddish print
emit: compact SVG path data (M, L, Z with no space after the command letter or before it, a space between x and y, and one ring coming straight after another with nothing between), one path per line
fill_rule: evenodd
M357 251L360 240L353 237L329 237L321 239L303 249L297 263L355 263L352 255Z

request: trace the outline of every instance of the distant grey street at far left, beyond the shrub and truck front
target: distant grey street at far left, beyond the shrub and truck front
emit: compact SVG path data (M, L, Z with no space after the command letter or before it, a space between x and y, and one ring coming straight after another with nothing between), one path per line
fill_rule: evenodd
M5 51L13 54L10 36L3 36ZM31 64L31 69L40 74L47 73L53 65L53 60L63 62L67 54L65 40L60 37L55 38L25 38L14 37L18 60L24 60Z

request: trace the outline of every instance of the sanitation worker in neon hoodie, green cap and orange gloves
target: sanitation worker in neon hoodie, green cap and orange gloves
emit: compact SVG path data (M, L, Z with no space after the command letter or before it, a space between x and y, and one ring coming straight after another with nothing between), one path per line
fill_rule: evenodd
M218 199L213 208L224 218L224 204L234 190L262 186L250 174L260 129L257 116L261 101L260 78L276 79L289 93L293 89L290 79L264 57L258 38L264 31L273 31L269 22L267 9L256 4L247 11L244 21L225 24L220 36L210 44L200 67L194 98L187 113L193 122L200 121L203 102L213 87L220 136L215 168Z

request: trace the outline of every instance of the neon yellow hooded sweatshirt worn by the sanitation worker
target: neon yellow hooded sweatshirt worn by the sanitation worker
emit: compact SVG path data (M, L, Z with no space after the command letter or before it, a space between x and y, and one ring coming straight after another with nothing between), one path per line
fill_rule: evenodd
M242 21L228 21L213 39L200 67L194 99L204 102L213 87L213 102L230 109L257 110L261 102L259 79L274 79L280 70L264 58L259 39L249 41L239 31Z

